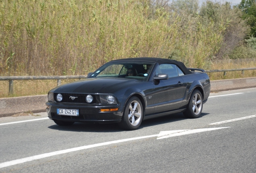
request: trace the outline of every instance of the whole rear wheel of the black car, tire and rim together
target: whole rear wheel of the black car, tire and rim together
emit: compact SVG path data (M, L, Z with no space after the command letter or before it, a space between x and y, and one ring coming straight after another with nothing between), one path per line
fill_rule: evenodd
M183 114L186 118L198 118L202 113L202 107L202 94L200 91L194 90L188 102L187 109Z

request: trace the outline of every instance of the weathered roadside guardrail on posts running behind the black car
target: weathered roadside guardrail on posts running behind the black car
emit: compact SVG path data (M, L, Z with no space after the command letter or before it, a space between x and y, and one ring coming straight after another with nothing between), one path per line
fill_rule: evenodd
M254 68L239 68L239 69L224 69L224 70L205 70L207 73L211 72L224 72L224 76L230 71L242 71L256 70ZM57 86L61 85L61 79L83 79L87 78L87 75L75 75L75 76L0 76L0 80L9 80L9 95L13 94L13 80L57 80Z

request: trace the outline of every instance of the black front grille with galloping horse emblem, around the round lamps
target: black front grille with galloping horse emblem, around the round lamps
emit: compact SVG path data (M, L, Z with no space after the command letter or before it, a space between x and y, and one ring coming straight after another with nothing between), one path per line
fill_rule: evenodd
M61 102L65 102L65 103L87 103L86 102L86 97L88 94L67 94L67 93L61 93L62 94L62 101ZM93 102L92 103L96 103L96 97L95 95L93 96ZM56 96L55 96L56 98ZM73 100L72 100L73 98Z

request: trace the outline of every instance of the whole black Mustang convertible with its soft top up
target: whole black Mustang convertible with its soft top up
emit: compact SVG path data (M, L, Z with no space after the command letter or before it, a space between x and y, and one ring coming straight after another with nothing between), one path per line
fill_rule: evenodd
M142 120L173 113L199 117L210 89L202 69L170 59L126 58L52 89L46 110L57 125L118 123L135 130Z

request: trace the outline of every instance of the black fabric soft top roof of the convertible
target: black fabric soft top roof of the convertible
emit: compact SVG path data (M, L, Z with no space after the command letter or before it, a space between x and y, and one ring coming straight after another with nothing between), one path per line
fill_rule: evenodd
M158 64L175 64L177 65L184 74L191 74L192 72L186 68L183 62L171 60L171 59L165 59L165 58L149 58L149 57L142 57L142 58L125 58L125 59L118 59L113 61L144 61L144 62L157 62Z

